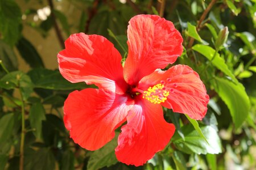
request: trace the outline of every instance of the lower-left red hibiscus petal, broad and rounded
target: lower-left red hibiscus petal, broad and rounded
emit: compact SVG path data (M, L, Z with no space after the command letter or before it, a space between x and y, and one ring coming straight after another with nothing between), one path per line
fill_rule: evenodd
M133 103L124 95L94 88L73 91L64 103L64 124L75 143L97 150L114 138Z

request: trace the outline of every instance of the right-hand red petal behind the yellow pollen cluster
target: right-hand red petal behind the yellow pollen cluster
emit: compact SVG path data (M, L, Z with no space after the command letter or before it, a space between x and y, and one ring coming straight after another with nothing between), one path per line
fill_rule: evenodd
M202 120L207 112L209 96L199 75L189 66L176 65L167 71L155 71L139 82L138 88L147 90L158 83L164 83L170 92L162 104L174 112L188 114L189 117Z

